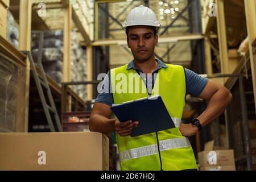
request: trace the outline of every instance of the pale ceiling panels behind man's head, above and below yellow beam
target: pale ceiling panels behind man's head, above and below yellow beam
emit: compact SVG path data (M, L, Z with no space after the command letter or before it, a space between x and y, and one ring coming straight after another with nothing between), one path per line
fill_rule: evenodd
M109 36L105 36L104 32L99 31L99 39L126 39L126 34L125 31L123 31L122 24L126 20L128 13L134 9L134 7L139 5L144 5L144 1L99 3L99 17L109 17ZM183 11L187 5L187 0L148 1L148 6L155 12L160 24L162 25L160 34L165 31L163 35L160 35L160 37L189 34L188 10L185 10L184 13L177 18L180 12ZM108 13L106 13L106 10L108 10ZM175 20L176 18L177 20ZM166 29L174 20L175 23L173 23L170 28ZM102 28L99 27L99 30L102 30ZM166 63L181 64L185 67L189 67L191 64L192 58L190 41L159 44L156 47L155 52L157 55L156 57L162 59ZM110 46L110 67L118 67L119 65L129 63L132 59L133 56L127 46Z

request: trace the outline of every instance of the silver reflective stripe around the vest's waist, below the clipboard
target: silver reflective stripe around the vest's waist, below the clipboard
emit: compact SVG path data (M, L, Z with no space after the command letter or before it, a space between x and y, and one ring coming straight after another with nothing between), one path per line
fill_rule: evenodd
M170 150L173 148L190 147L191 144L187 138L174 138L159 141L160 151ZM143 156L158 154L157 144L151 144L150 146L133 148L119 153L119 158L122 161L129 159L141 158Z

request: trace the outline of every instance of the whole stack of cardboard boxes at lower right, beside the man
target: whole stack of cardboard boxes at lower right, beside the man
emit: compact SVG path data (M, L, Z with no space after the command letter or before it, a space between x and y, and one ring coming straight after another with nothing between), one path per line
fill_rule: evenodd
M234 151L218 149L213 140L205 143L198 159L200 171L236 171Z

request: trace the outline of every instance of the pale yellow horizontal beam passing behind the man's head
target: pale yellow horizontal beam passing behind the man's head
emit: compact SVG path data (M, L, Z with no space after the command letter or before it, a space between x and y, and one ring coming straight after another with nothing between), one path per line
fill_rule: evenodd
M162 36L162 37L159 37L158 44L176 43L184 40L200 40L200 39L204 39L204 36L201 34ZM126 39L104 39L104 40L97 40L92 42L92 46L110 46L110 45L126 46L127 42L126 42Z

